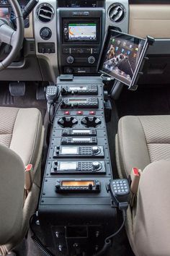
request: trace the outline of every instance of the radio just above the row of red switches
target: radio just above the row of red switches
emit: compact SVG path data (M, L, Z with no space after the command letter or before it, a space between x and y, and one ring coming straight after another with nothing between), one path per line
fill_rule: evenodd
M61 108L99 108L98 98L64 98Z

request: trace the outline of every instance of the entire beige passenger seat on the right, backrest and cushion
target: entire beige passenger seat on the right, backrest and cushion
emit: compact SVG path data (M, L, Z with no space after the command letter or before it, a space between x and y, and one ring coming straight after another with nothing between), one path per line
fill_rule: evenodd
M116 136L117 169L140 168L138 195L126 229L137 256L170 255L170 116L124 116Z

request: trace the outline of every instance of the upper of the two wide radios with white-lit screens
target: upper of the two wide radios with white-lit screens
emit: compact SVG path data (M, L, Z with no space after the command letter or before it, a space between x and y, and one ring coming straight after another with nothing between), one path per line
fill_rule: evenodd
M56 146L53 158L58 157L104 158L104 148L103 146Z

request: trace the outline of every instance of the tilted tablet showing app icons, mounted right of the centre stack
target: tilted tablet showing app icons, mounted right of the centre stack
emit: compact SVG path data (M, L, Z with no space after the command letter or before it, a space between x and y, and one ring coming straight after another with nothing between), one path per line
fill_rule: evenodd
M111 30L107 36L100 71L130 85L145 40Z

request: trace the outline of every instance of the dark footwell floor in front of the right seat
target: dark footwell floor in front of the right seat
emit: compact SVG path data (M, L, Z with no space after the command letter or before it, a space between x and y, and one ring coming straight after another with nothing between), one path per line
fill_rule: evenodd
M115 103L119 117L170 114L170 86L139 87L136 91L124 88Z

